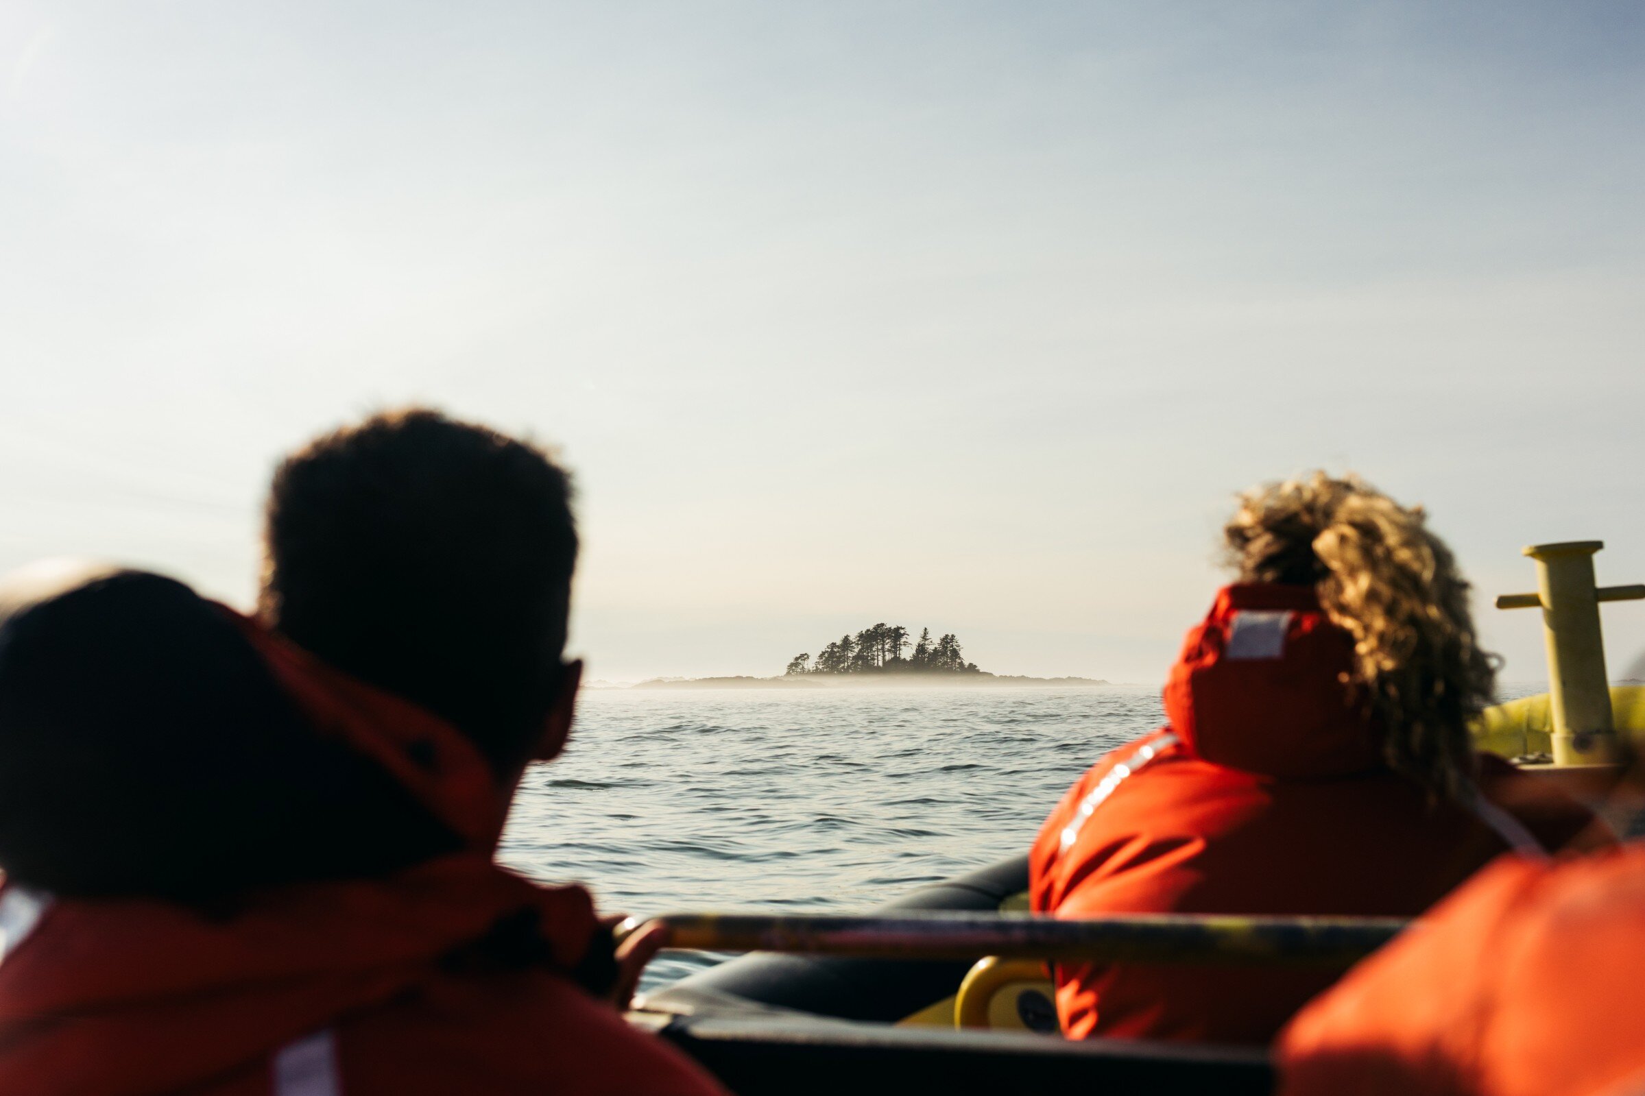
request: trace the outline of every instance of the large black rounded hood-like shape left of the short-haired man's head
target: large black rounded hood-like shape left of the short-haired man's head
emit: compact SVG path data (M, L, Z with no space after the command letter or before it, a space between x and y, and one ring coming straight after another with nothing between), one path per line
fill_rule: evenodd
M462 848L311 731L235 623L130 570L0 606L0 866L72 897L211 902Z

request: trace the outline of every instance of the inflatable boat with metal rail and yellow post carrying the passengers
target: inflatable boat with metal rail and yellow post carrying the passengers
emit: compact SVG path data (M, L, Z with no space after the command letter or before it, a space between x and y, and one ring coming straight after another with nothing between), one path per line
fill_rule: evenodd
M1599 605L1645 585L1594 583L1597 541L1525 549L1553 688L1484 713L1480 749L1601 804L1624 739L1645 739L1645 687L1610 687ZM1619 825L1619 820L1612 820ZM1620 827L1619 827L1620 828ZM628 1019L673 1042L740 1096L765 1093L1099 1091L1120 1096L1273 1091L1262 1048L1058 1035L1048 958L1318 961L1346 969L1397 935L1388 919L1028 915L1026 854L920 887L864 917L681 914L674 946L747 951L635 1002Z

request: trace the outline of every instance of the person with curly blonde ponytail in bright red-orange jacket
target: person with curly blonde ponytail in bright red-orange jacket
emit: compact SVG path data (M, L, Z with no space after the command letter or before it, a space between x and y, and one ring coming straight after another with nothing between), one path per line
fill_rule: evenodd
M1242 496L1239 582L1188 633L1168 726L1069 789L1030 899L1104 914L1415 915L1497 854L1561 846L1591 812L1474 756L1490 702L1467 583L1406 509L1323 473ZM1606 841L1604 835L1594 838ZM1056 966L1064 1034L1268 1042L1331 974Z

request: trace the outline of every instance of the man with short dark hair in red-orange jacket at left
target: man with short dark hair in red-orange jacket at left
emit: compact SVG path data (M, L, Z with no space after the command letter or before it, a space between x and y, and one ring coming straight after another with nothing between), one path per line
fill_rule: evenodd
M494 863L571 726L566 475L378 416L285 462L266 549L258 619L0 590L0 1091L721 1093L615 1007L655 938Z

